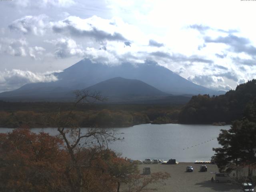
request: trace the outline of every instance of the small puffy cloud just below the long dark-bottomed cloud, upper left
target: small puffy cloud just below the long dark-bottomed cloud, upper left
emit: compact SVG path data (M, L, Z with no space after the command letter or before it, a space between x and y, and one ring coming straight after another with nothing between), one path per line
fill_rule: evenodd
M71 56L83 57L85 55L85 50L82 46L71 38L59 38L56 40L46 40L45 42L56 46L54 55L57 58L67 58Z

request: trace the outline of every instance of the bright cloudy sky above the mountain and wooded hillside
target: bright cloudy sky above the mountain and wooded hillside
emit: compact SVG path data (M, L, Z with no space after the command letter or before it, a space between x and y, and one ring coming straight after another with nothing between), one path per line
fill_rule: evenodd
M83 58L154 60L214 90L256 77L256 0L0 0L0 92Z

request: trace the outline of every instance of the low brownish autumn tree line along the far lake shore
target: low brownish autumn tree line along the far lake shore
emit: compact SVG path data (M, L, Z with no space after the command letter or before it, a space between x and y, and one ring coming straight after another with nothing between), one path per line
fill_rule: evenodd
M51 110L49 110L40 108L40 103L24 103L24 106L28 106L26 109L20 106L20 103L4 103L10 104L12 110L7 107L0 110L0 127L9 128L16 128L22 124L32 128L53 127L54 122L47 117L54 116L58 112L62 115L68 114L68 107L71 106L67 103L52 103ZM15 104L17 104L16 107ZM48 103L46 103L47 105ZM124 127L150 121L155 123L176 122L178 113L179 107L177 106L135 105L133 108L126 105L79 105L73 112L72 118L81 127Z

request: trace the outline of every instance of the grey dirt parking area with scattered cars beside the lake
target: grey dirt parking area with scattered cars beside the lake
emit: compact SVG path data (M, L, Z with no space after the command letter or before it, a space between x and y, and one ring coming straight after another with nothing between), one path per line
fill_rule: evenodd
M178 165L141 164L139 170L142 173L144 167L150 167L151 173L168 172L171 178L165 180L165 184L158 185L159 192L240 192L241 188L235 183L211 182L218 168L214 164L207 164L207 172L199 172L201 164L180 163ZM185 172L186 166L193 166L194 172ZM152 185L151 187L156 187Z

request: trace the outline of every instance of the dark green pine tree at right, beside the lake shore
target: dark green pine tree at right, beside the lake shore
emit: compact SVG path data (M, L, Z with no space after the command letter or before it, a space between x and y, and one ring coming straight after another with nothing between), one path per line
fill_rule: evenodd
M221 130L218 143L222 148L213 148L216 152L216 163L220 171L234 169L239 165L249 167L256 161L256 123L247 119L236 120L230 130ZM232 166L234 168L232 168Z

